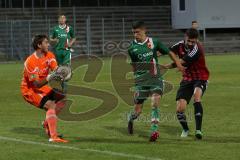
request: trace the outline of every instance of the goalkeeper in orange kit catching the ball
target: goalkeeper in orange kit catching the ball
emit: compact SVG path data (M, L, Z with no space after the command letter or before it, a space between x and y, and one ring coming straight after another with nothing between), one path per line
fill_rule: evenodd
M44 127L49 141L66 143L68 141L60 138L57 133L57 114L64 107L64 95L47 85L56 76L50 73L58 67L55 56L48 51L49 42L46 35L35 36L32 45L35 51L24 63L22 96L28 103L46 110Z

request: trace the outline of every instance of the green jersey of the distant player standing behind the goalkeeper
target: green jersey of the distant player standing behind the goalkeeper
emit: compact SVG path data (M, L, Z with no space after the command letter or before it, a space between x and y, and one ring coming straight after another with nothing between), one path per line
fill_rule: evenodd
M54 49L60 50L68 48L69 40L75 38L75 35L71 26L62 28L58 25L53 28L51 38L57 38L59 40L58 43L54 46Z

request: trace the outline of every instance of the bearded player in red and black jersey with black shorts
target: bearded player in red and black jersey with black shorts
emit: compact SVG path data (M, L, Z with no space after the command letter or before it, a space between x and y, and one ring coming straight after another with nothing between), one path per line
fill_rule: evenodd
M174 44L170 47L170 50L178 55L181 63L186 67L176 96L177 118L183 128L181 137L187 137L189 135L189 128L184 112L187 104L189 104L193 97L196 122L195 136L197 139L202 139L203 107L201 99L207 88L209 71L206 67L203 47L198 42L198 31L193 28L187 30L185 39ZM172 63L165 65L165 67L174 68L176 65Z

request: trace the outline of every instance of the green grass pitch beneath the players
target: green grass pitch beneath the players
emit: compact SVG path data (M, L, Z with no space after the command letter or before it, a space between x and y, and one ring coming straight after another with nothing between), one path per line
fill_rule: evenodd
M175 94L181 75L171 70L164 78L174 84L174 90L161 101L160 138L156 143L148 142L150 101L146 101L144 114L135 123L135 134L129 136L124 115L131 107L120 98L118 107L100 118L85 122L60 120L58 129L70 143L48 143L41 127L44 112L27 104L20 95L23 64L0 64L0 160L239 160L240 56L207 56L206 59L211 77L203 97L203 140L194 139L193 114L188 115L191 136L179 137L181 128L174 117ZM110 79L110 59L104 62L95 82L81 82L86 71L86 67L81 67L75 71L71 83L117 96ZM160 57L160 63L166 62L169 62L168 57ZM83 96L72 98L76 103L71 111L76 113L100 103ZM192 113L192 103L188 113Z

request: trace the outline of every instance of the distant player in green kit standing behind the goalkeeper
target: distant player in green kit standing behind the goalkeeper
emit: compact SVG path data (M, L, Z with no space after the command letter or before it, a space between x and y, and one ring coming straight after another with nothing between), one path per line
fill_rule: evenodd
M65 15L60 15L58 25L53 28L50 35L50 42L53 43L54 53L58 65L70 65L72 46L76 41L74 30L67 25Z

